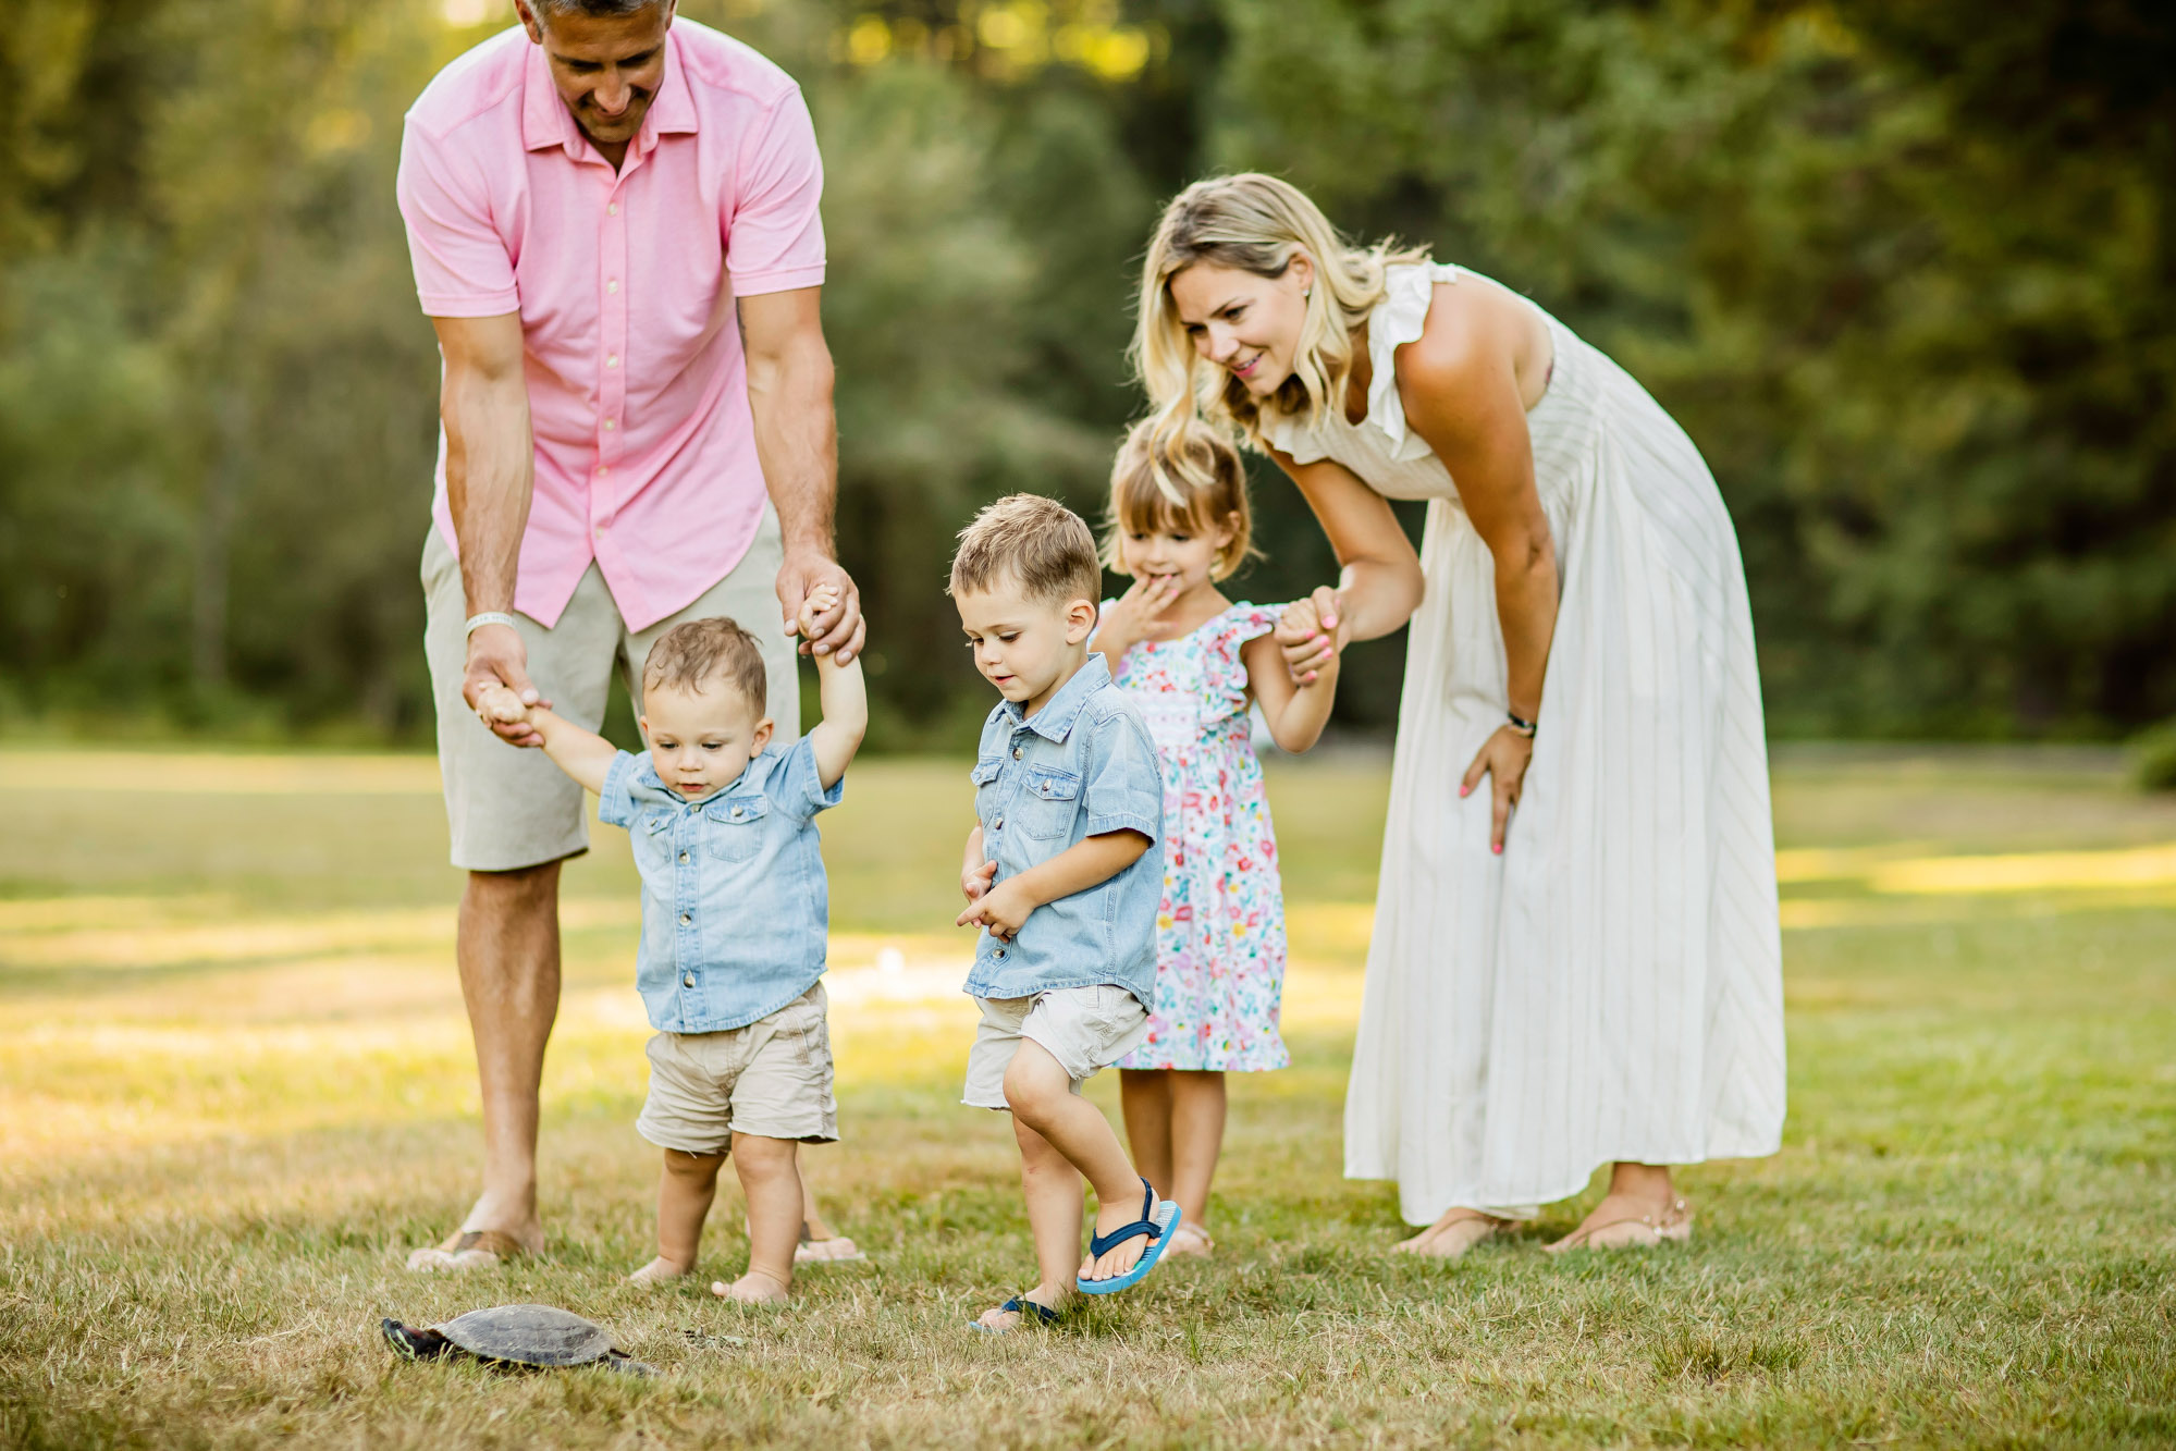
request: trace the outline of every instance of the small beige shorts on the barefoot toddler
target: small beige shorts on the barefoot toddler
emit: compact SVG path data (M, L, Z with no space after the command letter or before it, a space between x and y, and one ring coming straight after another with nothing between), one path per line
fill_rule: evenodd
M657 1033L644 1053L651 1096L635 1131L659 1149L725 1153L735 1133L838 1140L823 983L749 1027Z

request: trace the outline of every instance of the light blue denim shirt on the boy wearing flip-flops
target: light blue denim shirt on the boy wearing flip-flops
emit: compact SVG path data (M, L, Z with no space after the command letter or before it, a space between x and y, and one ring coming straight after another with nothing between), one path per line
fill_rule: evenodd
M1053 988L1116 983L1155 1003L1155 909L1164 896L1164 768L1155 740L1110 666L1090 655L1031 718L1014 700L990 711L975 753L981 851L1005 881L1081 838L1138 831L1149 851L1086 892L1027 914L1012 942L975 942L966 990L1025 999ZM992 883L994 885L994 883Z

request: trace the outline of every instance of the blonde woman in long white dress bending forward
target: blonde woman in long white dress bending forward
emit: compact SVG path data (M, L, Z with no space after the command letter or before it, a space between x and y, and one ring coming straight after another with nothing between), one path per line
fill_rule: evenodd
M1530 300L1353 248L1271 176L1164 211L1136 365L1330 535L1338 587L1279 631L1295 672L1412 620L1347 1177L1397 1179L1414 1253L1602 1164L1551 1249L1686 1238L1671 1166L1773 1153L1784 1114L1752 611L1693 442ZM1419 559L1388 498L1427 500Z

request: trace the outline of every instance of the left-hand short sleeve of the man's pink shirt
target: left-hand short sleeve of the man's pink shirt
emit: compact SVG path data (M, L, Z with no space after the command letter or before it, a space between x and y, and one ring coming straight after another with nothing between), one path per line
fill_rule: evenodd
M431 318L498 318L520 311L514 259L492 224L483 174L459 148L413 120L400 133L394 185L409 233L416 298Z

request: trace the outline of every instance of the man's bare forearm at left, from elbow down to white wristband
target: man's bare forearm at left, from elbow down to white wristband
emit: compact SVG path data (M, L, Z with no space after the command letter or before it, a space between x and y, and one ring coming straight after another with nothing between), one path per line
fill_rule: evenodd
M468 613L514 609L514 576L535 487L529 389L511 381L446 376L446 507L461 553Z

